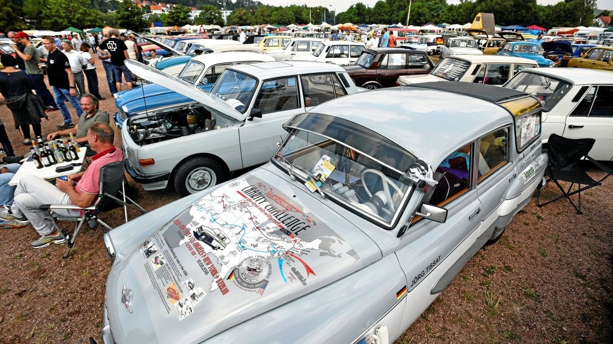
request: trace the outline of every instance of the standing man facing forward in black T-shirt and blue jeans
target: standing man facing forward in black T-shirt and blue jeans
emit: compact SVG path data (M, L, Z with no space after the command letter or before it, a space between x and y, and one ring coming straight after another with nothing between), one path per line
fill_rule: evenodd
M47 58L47 76L49 77L49 85L53 86L53 94L55 95L55 105L61 111L64 117L64 123L58 125L58 129L68 129L74 127L68 108L64 100L68 99L70 105L77 111L77 116L83 113L81 105L77 99L77 86L75 86L70 62L64 53L59 51L55 46L55 41L51 36L42 36L42 43L49 51Z

